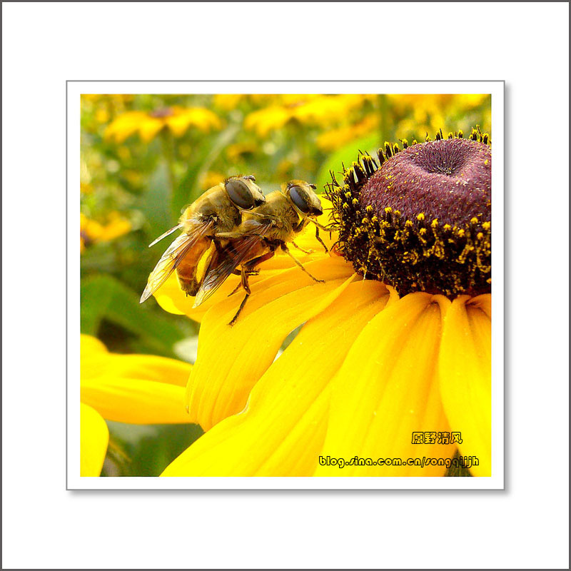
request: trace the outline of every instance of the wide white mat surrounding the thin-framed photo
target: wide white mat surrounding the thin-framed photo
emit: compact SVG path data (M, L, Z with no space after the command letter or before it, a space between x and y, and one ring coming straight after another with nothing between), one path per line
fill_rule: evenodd
M567 4L2 7L4 568L567 567ZM66 492L66 79L505 79L506 490Z

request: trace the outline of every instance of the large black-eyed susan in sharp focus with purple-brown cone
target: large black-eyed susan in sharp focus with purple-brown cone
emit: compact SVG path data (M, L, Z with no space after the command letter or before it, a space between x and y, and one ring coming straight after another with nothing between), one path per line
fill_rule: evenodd
M457 450L491 474L489 141L403 146L333 179L333 254L296 240L325 283L278 256L233 328L236 280L196 309L174 278L158 290L201 320L185 400L207 431L164 476L444 475Z

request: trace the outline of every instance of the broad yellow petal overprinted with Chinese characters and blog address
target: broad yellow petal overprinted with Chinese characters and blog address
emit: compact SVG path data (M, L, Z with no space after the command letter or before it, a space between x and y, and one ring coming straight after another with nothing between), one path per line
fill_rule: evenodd
M449 432L440 403L436 366L442 313L440 295L411 293L390 303L363 329L331 383L323 457L442 458L443 465L320 465L315 475L443 475L453 445L413 444L413 432Z

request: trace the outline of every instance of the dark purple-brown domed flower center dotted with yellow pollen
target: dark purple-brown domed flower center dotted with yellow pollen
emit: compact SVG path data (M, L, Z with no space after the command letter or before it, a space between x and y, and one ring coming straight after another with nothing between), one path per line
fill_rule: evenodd
M450 133L404 149L385 143L333 177L339 250L367 278L405 295L490 291L491 151L487 134Z

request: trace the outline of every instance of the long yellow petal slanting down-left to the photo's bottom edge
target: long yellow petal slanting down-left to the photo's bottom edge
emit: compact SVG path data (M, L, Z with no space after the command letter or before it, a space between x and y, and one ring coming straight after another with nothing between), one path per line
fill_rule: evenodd
M209 430L163 475L312 475L327 428L330 380L388 297L380 282L350 283L268 368L246 410Z

